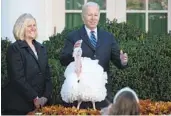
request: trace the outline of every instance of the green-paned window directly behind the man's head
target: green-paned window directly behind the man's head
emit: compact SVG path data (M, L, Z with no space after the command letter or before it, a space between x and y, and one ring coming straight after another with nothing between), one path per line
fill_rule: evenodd
M70 29L82 25L82 6L89 1L93 1L100 6L100 21L104 23L106 20L106 0L65 0L65 27Z

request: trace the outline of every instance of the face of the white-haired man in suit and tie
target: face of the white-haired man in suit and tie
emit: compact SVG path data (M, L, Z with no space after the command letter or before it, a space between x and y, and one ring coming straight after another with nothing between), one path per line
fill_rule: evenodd
M99 23L99 8L97 6L88 6L85 13L83 14L84 24L90 29L93 30L97 27Z

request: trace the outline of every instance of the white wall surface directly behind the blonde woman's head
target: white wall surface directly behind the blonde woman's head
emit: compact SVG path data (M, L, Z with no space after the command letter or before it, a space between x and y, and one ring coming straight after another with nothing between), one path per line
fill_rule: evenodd
M49 1L47 3L47 1ZM23 13L31 13L37 20L39 42L47 40L53 33L51 0L2 0L1 37L15 41L12 29L17 18Z

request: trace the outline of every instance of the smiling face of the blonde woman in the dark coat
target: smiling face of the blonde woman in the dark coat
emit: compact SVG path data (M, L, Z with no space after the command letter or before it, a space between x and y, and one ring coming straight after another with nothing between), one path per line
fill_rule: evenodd
M35 20L29 19L25 27L25 39L35 39L37 36L37 25Z

